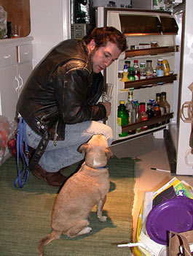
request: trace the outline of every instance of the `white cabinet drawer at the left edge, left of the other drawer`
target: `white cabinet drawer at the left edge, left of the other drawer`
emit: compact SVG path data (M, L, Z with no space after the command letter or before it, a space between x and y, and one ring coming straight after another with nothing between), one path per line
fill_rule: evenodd
M17 63L16 48L4 47L0 50L0 68L11 66Z

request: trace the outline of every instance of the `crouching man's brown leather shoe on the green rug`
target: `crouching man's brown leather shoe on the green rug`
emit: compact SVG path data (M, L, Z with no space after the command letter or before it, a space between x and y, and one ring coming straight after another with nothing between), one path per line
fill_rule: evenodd
M49 173L44 170L40 165L36 166L36 170L32 172L36 178L44 179L50 187L61 187L66 181L66 176L60 173L60 170L56 173Z

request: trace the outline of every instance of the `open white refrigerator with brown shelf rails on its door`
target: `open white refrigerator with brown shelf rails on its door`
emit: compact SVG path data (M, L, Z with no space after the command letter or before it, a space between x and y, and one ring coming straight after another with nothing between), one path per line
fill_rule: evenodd
M113 144L124 143L151 133L155 138L165 140L171 173L189 176L193 174L193 155L189 143L192 123L184 122L180 110L184 102L192 102L192 91L189 89L193 82L192 8L193 1L186 0L173 4L168 11L115 7L96 7L95 10L97 26L114 26L119 29L125 34L128 45L128 49L103 73L105 83L114 85L111 115L106 121L114 132ZM158 47L149 48L151 41L157 41ZM172 72L159 78L122 82L118 78L118 70L123 69L126 60L129 60L132 66L135 59L138 59L139 63L150 59L154 69L157 59L167 59ZM149 99L155 99L156 93L165 91L170 113L120 127L117 124L117 108L120 100L127 102L130 90L133 91L133 99L146 103ZM184 108L184 116L186 115ZM144 124L156 124L158 121L163 123L166 120L170 122L124 138L119 137L120 133L143 127Z

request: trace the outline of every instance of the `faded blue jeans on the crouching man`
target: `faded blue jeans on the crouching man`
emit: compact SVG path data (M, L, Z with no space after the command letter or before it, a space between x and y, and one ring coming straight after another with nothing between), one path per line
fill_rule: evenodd
M39 145L41 136L37 135L27 125L28 146L36 148ZM56 146L52 140L49 141L39 165L47 172L54 173L63 167L72 165L84 159L84 154L80 154L77 149L95 134L103 134L108 140L109 146L113 140L110 127L98 121L84 121L78 124L66 124L65 140L58 140Z

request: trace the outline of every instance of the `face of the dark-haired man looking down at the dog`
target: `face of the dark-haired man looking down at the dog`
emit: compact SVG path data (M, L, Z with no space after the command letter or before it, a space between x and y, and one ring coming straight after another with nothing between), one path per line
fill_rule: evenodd
M95 73L101 72L109 67L113 61L119 58L121 50L112 42L107 42L106 46L94 49L90 52L92 70Z

